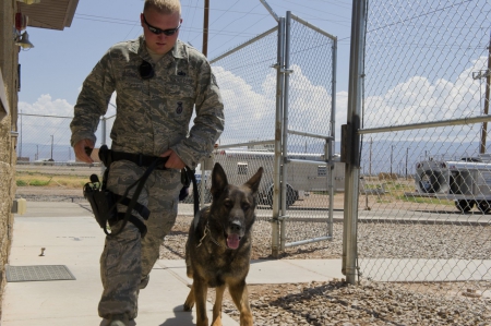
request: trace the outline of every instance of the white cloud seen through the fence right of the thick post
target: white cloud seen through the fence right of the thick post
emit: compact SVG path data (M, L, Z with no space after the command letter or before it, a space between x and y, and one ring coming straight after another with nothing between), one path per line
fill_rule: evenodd
M368 97L364 101L366 128L422 123L482 114L482 81L474 80L472 72L486 67L487 58L471 62L454 82L443 79L431 82L424 76L412 76L388 89L386 94ZM466 126L469 131L475 126ZM447 128L464 134L463 129ZM454 133L453 136L458 136Z

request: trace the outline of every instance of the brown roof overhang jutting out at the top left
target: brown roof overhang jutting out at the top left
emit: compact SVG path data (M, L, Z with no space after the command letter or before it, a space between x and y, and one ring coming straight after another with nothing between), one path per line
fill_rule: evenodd
M39 3L17 4L20 11L28 16L28 26L63 31L72 25L79 0L41 0Z

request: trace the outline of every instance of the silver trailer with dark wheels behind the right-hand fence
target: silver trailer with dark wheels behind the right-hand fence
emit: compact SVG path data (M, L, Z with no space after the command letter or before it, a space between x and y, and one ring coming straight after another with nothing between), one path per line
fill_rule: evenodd
M416 196L455 202L460 212L477 207L491 210L491 159L489 155L460 160L427 159L416 164Z

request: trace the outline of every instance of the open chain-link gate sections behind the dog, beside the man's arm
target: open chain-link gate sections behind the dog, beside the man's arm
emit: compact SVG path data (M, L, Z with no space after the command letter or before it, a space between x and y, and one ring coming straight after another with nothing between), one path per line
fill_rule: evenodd
M231 183L265 169L258 217L271 222L275 257L288 246L332 239L340 165L334 157L337 39L290 12L277 21L211 60L226 119L214 161Z

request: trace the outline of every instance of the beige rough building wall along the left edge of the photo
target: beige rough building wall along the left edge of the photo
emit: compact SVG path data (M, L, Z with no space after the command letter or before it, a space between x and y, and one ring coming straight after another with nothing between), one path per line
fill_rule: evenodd
M10 210L15 195L16 137L11 137L11 131L17 130L19 47L13 40L14 8L15 0L0 1L0 70L10 109L9 116L0 121L0 304L5 286L4 266L9 262L12 241L13 215Z

